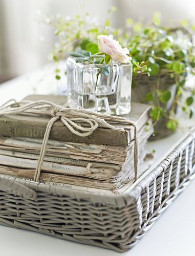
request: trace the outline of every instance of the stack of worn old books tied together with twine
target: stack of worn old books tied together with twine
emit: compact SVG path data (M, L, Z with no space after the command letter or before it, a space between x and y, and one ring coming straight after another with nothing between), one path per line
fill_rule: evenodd
M24 100L66 103L64 96L28 96ZM127 120L139 128L139 167L144 163L147 139L153 133L150 107L132 103ZM20 114L0 117L0 174L33 180L42 138L51 117ZM98 127L89 137L72 134L59 120L54 123L41 168L40 182L115 190L135 180L134 127L125 132Z

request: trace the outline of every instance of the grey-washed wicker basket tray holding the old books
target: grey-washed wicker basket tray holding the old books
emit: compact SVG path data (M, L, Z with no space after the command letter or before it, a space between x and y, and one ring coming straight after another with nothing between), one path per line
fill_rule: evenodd
M105 196L0 176L0 223L123 252L195 173L195 131L123 195Z

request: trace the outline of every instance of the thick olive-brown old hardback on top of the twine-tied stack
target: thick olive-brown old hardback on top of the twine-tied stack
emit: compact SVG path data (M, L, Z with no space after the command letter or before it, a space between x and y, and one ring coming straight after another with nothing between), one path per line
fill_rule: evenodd
M49 100L56 104L64 104L67 102L66 96L43 96L32 95L24 100ZM123 115L127 120L135 121L139 129L146 123L150 106L142 103L132 102L132 110L128 115ZM27 138L43 138L47 124L51 116L33 116L33 115L13 115L0 117L0 136L6 137L27 137ZM115 124L114 124L115 125ZM118 126L119 124L116 124ZM127 146L134 138L134 127L132 125L122 125L124 132L113 131L106 128L96 129L92 135L88 137L80 137L73 134L64 124L58 120L54 123L51 133L51 140L59 140L76 143L91 143Z

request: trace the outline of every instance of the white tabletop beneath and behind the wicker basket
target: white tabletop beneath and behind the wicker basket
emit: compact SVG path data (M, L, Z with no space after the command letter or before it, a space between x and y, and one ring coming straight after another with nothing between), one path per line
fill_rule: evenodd
M0 84L0 105L10 98L20 100L32 93L47 94L56 87L51 71L41 69ZM44 78L46 77L46 78ZM171 143L171 142L170 142ZM162 214L138 244L122 255L194 256L195 255L195 181ZM117 252L60 240L44 234L0 225L0 255L113 256Z

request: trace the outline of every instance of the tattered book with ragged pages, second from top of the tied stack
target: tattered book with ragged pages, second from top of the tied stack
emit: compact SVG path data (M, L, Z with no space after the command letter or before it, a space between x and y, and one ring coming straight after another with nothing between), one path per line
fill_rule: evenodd
M151 120L148 119L148 125L143 125L139 131L139 141L148 139L153 133ZM18 152L28 154L38 154L42 145L42 139L14 137L0 138L0 150L12 151L16 156ZM134 140L128 146L112 146L103 144L87 144L62 142L57 140L49 140L47 144L46 156L63 157L67 161L73 162L78 160L94 161L101 163L114 163L122 165L129 154L134 151Z

